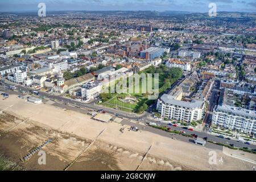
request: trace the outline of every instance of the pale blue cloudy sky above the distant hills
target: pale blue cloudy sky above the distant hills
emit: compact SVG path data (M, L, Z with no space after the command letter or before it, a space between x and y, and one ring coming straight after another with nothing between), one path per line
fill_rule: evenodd
M38 3L47 10L176 10L208 12L214 2L217 11L256 12L255 0L0 0L0 11L37 11Z

